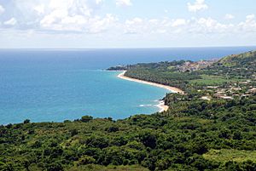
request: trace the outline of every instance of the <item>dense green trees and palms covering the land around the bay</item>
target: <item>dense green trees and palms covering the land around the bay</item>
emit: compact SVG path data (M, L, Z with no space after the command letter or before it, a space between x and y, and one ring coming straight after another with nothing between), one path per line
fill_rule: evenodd
M253 65L253 55L242 65ZM255 67L251 76L243 76L237 74L237 68L245 69L239 62L227 66L232 61L225 58L184 72L177 66L186 61L130 66L128 76L172 86L180 83L186 89L186 94L166 94L170 108L162 113L118 121L84 116L73 122L26 120L1 126L0 170L256 170L256 94L201 100L201 95L211 94L204 89L209 80L217 77L223 80L211 81L212 85L226 87L246 78L253 86ZM218 67L232 70L233 77L212 72Z

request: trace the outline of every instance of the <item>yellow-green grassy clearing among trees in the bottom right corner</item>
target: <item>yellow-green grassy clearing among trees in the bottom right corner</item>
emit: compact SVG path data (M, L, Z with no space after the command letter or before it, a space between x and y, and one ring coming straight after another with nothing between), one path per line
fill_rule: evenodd
M216 162L245 162L247 160L256 162L256 151L238 151L230 149L210 150L204 154L203 157Z

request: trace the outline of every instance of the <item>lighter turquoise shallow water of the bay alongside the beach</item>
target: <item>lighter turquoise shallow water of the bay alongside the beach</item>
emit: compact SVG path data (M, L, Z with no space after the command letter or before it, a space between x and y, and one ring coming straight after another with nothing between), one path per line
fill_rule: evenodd
M111 71L44 71L15 77L1 98L2 123L63 121L84 115L93 117L129 117L152 113L166 94L165 89L118 79ZM31 82L32 80L32 82ZM9 98L9 95L13 98ZM139 97L139 98L138 98ZM140 106L152 105L152 106Z

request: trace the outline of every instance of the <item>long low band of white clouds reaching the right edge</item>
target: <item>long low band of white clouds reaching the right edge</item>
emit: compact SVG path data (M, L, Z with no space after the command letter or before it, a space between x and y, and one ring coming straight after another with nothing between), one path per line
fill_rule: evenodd
M248 15L247 20L241 23L241 26L235 24L225 24L211 17L186 19L142 19L133 18L126 20L122 25L125 34L140 35L230 35L242 33L247 30L256 31L256 24L253 15ZM240 29L239 29L240 28ZM242 28L242 29L241 29Z

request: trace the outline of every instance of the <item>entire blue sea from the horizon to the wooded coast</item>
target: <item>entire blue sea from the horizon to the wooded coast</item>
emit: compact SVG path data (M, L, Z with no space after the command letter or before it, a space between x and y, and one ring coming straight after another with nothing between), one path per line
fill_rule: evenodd
M0 124L150 114L159 111L156 105L166 89L103 70L138 62L208 60L255 48L2 49Z

